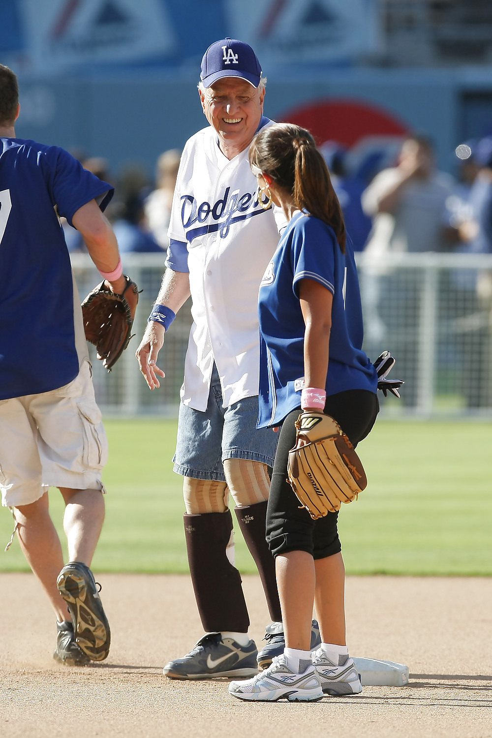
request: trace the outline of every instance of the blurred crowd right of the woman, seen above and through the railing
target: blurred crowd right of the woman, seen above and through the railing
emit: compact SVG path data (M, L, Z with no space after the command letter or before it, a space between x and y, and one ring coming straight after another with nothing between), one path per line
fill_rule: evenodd
M394 269L391 253L492 253L492 137L457 147L456 176L437 170L434 148L423 135L401 143L392 165L352 170L350 152L324 145L333 185L356 251L364 251L361 293L366 344L375 354L384 343L398 356L405 379L403 402L419 404L426 371L422 325L429 323L422 269ZM361 174L364 173L364 174ZM492 278L485 269L446 269L437 275L438 330L446 351L437 362L460 370L460 392L469 408L492 401ZM439 336L434 337L434 342ZM429 351L430 351L429 347ZM447 352L447 353L446 353ZM429 356L429 359L431 357ZM420 390L421 391L421 390Z

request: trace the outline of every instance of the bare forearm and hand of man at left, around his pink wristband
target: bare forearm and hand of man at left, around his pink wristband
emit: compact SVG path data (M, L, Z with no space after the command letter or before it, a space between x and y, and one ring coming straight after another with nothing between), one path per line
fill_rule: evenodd
M113 272L119 261L118 242L108 218L101 213L95 200L86 202L74 213L72 224L80 232L89 255L101 272ZM121 294L125 289L125 277L106 283L113 292Z

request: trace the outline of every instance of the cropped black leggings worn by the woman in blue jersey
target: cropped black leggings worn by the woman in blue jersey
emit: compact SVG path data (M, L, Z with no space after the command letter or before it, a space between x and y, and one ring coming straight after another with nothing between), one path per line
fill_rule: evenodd
M378 398L367 390L347 390L326 399L325 413L335 418L356 446L372 429L378 415ZM338 512L313 520L305 508L299 509L287 481L288 452L296 443L295 421L300 407L292 410L280 428L266 513L266 540L274 556L288 551L307 551L314 559L325 559L342 551L336 528Z

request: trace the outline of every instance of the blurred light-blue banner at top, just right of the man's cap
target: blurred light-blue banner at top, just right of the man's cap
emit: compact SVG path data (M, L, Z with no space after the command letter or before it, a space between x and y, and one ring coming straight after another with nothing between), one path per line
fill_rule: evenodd
M351 62L380 49L376 0L227 0L233 38L262 64Z

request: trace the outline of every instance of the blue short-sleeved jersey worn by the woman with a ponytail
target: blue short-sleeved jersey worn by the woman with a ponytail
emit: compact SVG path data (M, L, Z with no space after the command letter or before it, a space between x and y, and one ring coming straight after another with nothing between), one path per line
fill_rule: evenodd
M350 239L343 254L328 224L297 212L260 284L259 428L279 424L301 402L305 334L299 303L302 279L316 280L333 294L327 395L377 390L376 370L361 348L361 295Z

